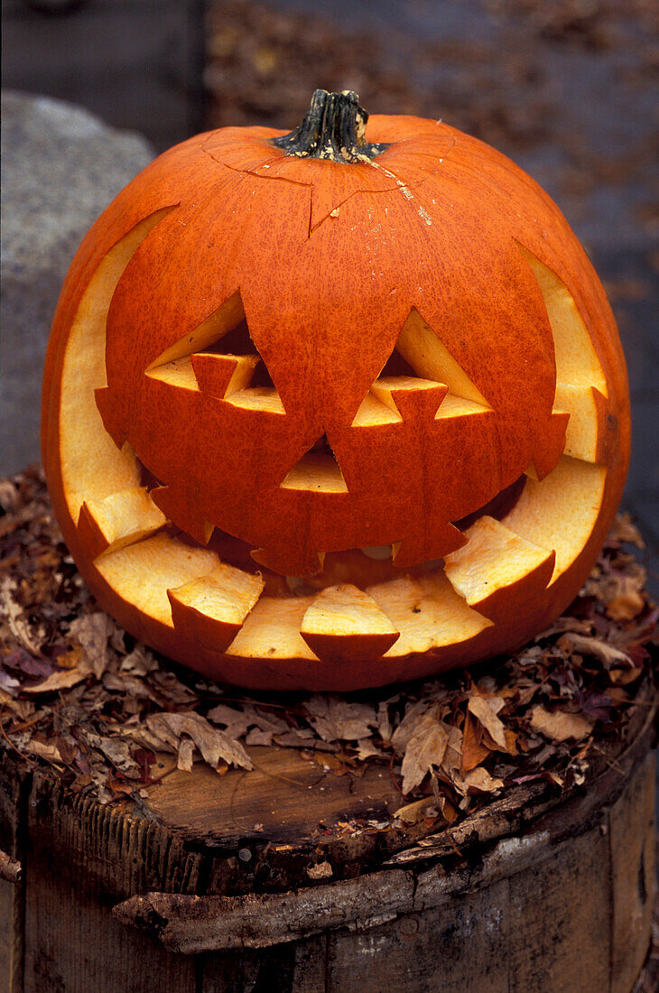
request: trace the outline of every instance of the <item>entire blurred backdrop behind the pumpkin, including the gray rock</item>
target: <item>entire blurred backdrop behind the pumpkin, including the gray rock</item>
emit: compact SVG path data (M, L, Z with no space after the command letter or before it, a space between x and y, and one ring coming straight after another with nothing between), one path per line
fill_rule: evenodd
M656 0L3 0L2 13L0 475L39 457L59 287L114 194L199 130L290 128L316 87L356 89L371 112L490 142L584 242L627 356L624 507L659 593Z

